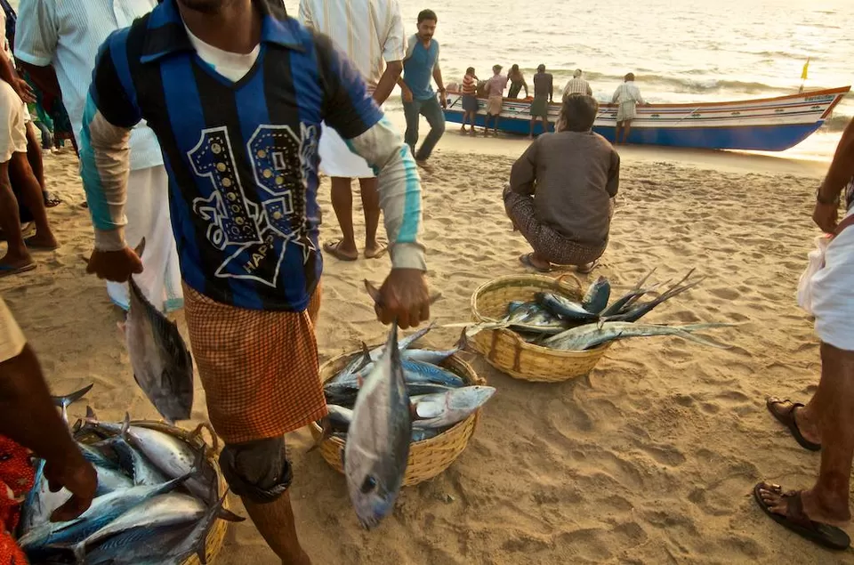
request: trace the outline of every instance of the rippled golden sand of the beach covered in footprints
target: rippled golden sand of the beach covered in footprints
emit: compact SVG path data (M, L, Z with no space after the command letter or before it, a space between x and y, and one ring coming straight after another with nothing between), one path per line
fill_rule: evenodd
M439 323L469 319L471 293L523 272L517 257L529 250L500 198L524 142L458 137L449 129L433 157L440 173L423 178L429 275L443 295L433 308ZM798 447L764 398L806 400L818 383L818 341L794 291L818 235L811 204L825 169L764 156L624 151L611 244L583 280L605 275L618 291L653 267L659 280L697 268L705 282L649 320L738 323L713 334L733 347L677 338L618 343L589 384L520 382L467 354L498 390L468 449L438 478L405 489L372 532L359 528L342 476L317 452L306 454L310 433L291 434L294 512L314 562L854 562L850 552L828 553L777 526L750 496L762 479L807 487L818 470L818 454ZM81 258L93 237L77 160L46 157L45 174L67 201L50 211L62 247L37 254L37 270L0 279L0 292L53 391L93 382L87 401L102 418L125 410L155 418L133 383L116 326L121 316L103 282L85 274ZM335 238L327 183L321 202L323 238ZM355 218L359 234L359 209ZM362 280L381 282L389 264L326 259L322 360L382 339ZM456 335L435 330L426 343L444 348ZM72 416L84 411L85 402L70 408ZM198 383L193 416L205 420ZM242 513L238 499L233 505ZM216 562L278 561L246 521L230 528Z

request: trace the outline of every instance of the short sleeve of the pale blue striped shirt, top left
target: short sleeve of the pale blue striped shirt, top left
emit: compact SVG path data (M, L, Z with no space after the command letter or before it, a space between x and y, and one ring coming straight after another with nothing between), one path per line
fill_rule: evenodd
M20 0L15 57L36 67L47 67L53 61L58 42L56 0Z

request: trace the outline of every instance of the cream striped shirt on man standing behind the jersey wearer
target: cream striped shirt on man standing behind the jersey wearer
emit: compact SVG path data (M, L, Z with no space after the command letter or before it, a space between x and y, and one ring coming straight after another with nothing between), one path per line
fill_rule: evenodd
M406 32L398 0L301 0L302 25L332 38L367 85L383 76L383 61L403 61Z

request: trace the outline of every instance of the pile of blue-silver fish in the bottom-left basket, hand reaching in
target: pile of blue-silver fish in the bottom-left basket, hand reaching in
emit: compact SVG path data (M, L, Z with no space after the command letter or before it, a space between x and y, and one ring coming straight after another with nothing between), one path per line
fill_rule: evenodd
M85 391L56 398L63 416ZM18 544L32 563L179 565L193 554L202 563L205 542L218 519L243 521L222 507L214 468L205 450L168 433L99 421L91 409L74 426L85 459L98 473L98 490L77 519L52 522L70 493L51 492L44 461L21 505Z

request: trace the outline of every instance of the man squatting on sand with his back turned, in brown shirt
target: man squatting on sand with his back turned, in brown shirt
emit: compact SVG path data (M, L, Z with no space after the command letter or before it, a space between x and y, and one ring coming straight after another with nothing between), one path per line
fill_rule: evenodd
M591 131L598 110L592 96L568 96L559 130L539 136L513 165L504 208L534 248L519 258L531 269L576 265L588 273L608 246L620 157Z

